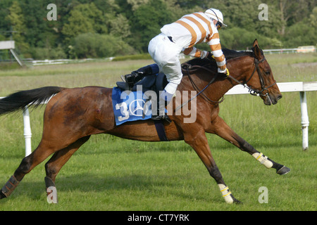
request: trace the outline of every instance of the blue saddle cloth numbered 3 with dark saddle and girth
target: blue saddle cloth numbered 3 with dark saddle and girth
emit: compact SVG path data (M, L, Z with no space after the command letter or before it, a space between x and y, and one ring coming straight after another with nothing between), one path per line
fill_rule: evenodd
M166 84L168 84L168 81L163 73L144 77L133 86L132 91L125 91L125 82L117 82L117 86L113 87L112 90L112 105L116 125L151 119L152 101L149 101L148 93L151 93L151 96L156 94L156 99L159 101L159 91L163 91ZM167 110L165 110L165 113L167 113ZM161 141L168 141L163 121L154 122Z

